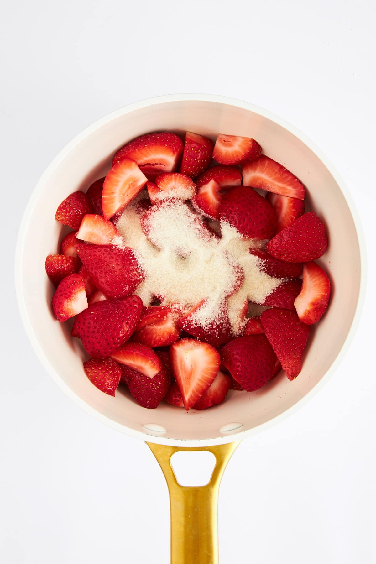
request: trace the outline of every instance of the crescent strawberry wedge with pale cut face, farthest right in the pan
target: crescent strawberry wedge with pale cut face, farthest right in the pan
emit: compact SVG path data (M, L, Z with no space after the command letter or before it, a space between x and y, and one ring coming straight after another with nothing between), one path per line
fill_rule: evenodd
M330 281L326 272L315 262L303 266L303 286L294 306L300 321L312 325L325 314L330 298Z

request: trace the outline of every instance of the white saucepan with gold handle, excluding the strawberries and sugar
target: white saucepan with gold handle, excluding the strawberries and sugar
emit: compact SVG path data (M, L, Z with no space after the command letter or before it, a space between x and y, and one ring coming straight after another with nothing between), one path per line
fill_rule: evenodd
M314 201L329 246L318 261L328 272L332 297L312 330L302 372L294 381L281 372L253 393L230 390L219 406L186 413L163 403L140 407L118 390L101 393L83 375L78 340L69 324L51 313L54 291L44 262L56 253L64 230L54 219L57 205L74 190L86 190L110 168L123 144L150 131L252 137L264 153L306 185L307 208ZM218 562L218 488L238 442L302 406L337 369L356 330L364 294L364 245L359 219L342 179L328 159L295 127L252 104L214 95L161 96L127 105L87 127L54 158L32 193L20 227L16 290L28 337L43 366L79 406L114 429L146 441L165 474L171 501L171 562ZM206 486L183 487L170 459L176 451L206 450L216 465Z

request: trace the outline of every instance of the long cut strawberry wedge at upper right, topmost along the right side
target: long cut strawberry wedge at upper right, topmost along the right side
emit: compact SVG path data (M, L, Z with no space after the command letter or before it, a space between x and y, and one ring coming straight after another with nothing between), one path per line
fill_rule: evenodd
M260 156L254 162L246 162L242 168L244 186L262 188L281 196L304 200L304 186L299 180L272 158Z

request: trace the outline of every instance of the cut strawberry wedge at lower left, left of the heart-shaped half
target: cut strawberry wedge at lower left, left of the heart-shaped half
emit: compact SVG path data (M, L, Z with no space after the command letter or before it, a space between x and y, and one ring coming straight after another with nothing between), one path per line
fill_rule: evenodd
M148 378L153 378L162 370L162 362L156 352L140 343L125 343L121 349L112 353L111 358Z

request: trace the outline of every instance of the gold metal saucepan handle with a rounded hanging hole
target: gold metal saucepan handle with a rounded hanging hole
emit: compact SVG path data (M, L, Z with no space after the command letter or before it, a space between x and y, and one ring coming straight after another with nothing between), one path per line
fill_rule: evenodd
M165 475L171 507L171 564L218 564L218 491L227 462L240 441L214 447L147 443ZM206 486L180 486L170 459L179 451L209 451L216 464Z

